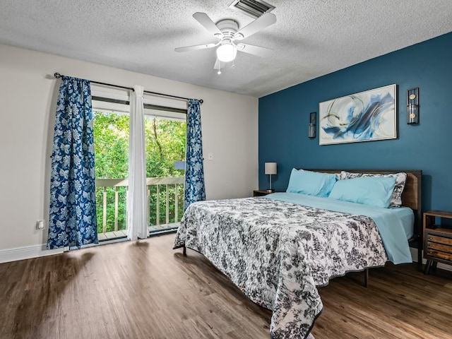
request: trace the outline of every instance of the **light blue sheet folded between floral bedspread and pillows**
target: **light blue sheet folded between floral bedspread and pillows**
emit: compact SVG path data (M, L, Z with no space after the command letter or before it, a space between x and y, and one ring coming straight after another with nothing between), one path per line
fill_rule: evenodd
M411 208L381 208L295 193L273 193L268 194L265 198L323 210L366 215L376 223L389 260L395 264L412 262L410 246L407 241L412 237L415 222L415 215Z

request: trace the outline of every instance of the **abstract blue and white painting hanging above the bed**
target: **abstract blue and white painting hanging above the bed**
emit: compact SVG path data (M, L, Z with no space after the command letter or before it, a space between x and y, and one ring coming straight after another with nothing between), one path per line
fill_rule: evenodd
M319 143L356 143L397 138L396 85L319 104Z

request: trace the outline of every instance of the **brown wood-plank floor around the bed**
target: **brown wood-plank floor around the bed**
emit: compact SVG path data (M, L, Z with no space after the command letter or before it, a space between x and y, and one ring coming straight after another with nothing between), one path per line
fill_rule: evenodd
M174 234L0 264L0 338L270 337L271 312ZM452 338L452 274L416 266L331 280L316 339Z

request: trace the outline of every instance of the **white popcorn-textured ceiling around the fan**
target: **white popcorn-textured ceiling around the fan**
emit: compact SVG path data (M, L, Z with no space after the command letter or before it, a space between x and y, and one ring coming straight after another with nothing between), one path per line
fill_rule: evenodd
M273 54L220 76L215 49L174 47L216 42L195 12L250 23L232 0L0 0L0 43L261 97L452 31L452 0L266 1L277 22L243 42Z

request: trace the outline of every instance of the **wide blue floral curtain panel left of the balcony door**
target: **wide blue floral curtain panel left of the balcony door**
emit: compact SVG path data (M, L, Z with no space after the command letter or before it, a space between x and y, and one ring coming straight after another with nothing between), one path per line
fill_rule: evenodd
M90 81L63 76L55 118L47 249L97 244Z

